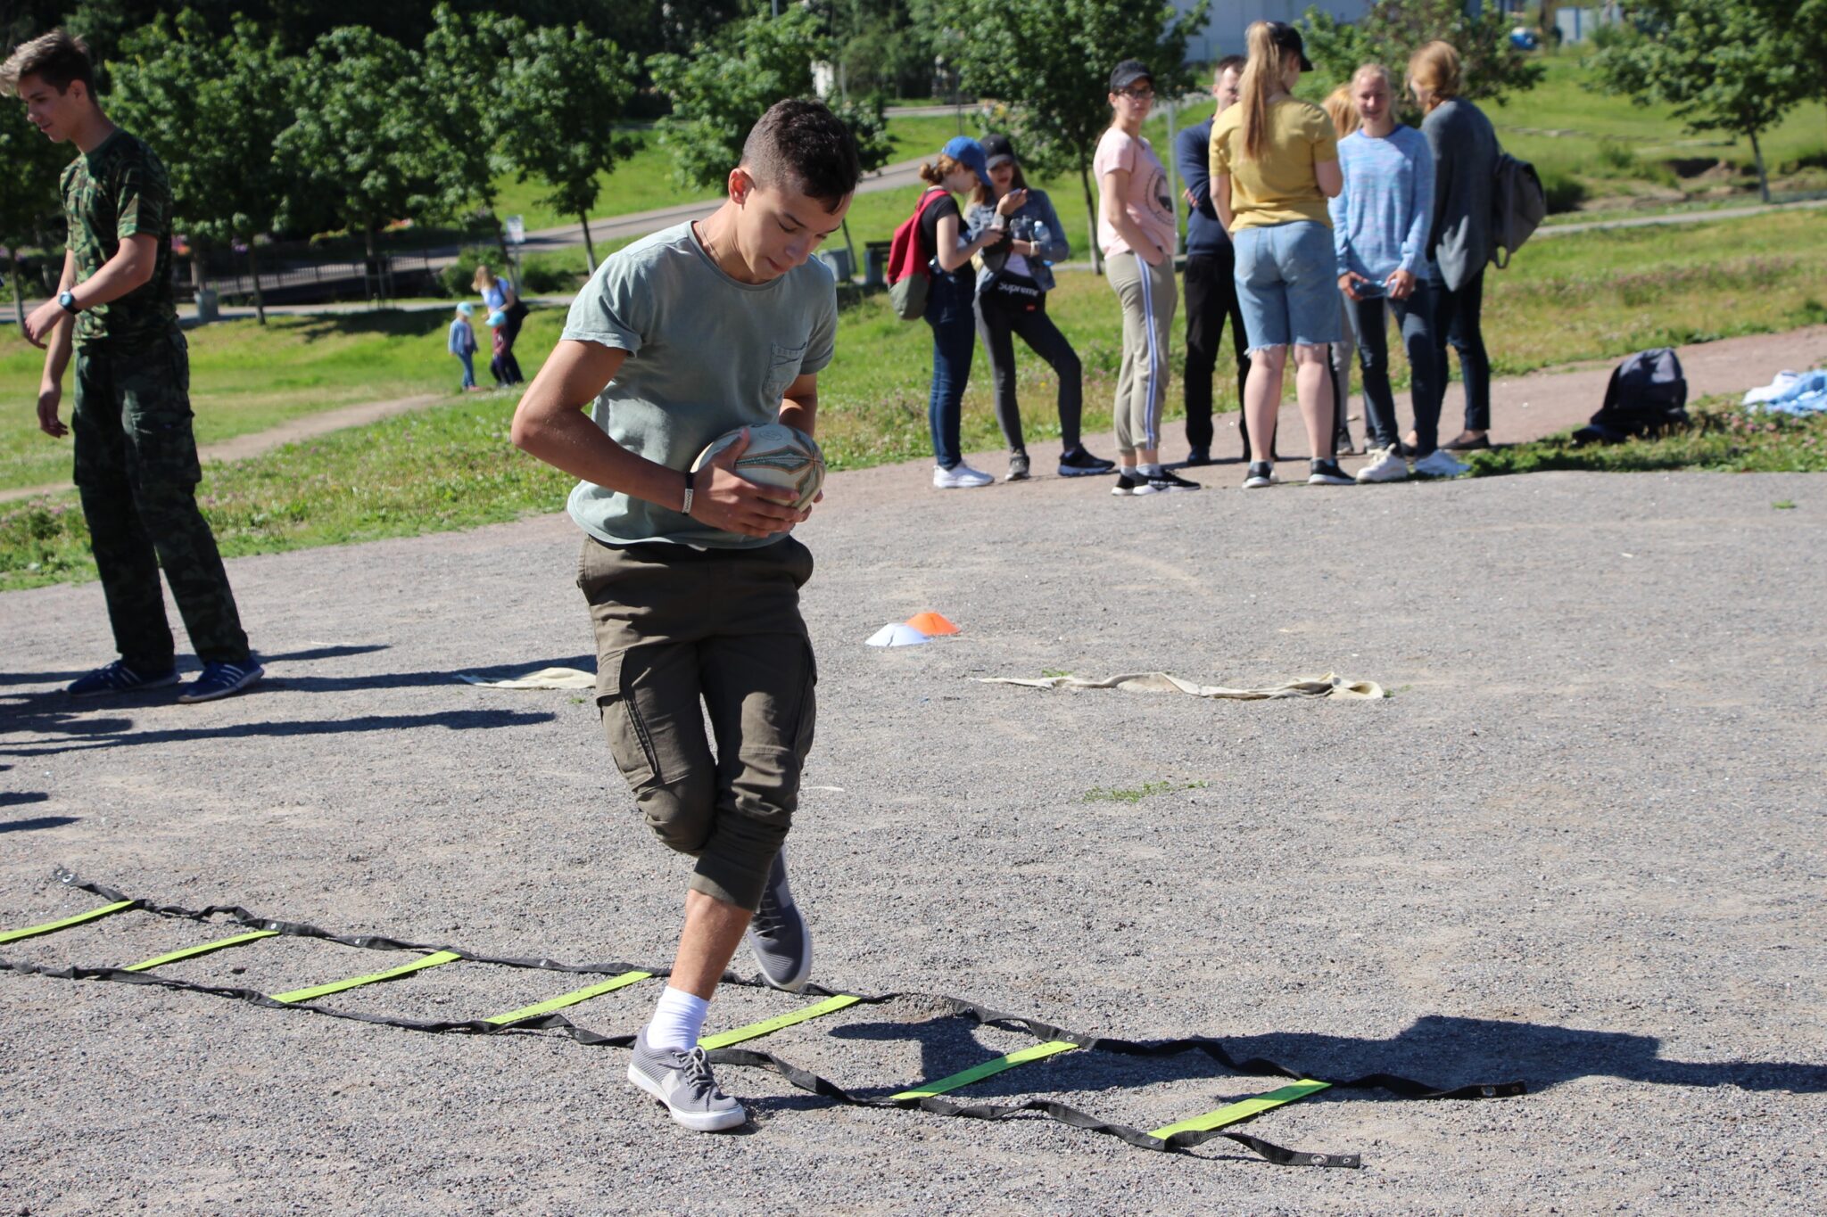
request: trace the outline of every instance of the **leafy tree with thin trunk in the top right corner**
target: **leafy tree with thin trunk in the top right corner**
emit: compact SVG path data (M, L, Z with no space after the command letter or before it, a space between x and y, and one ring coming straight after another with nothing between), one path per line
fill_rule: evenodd
M1690 131L1747 137L1758 195L1769 203L1759 137L1816 86L1818 71L1796 57L1790 15L1769 0L1646 0L1624 15L1593 55L1599 88L1639 106L1666 102Z

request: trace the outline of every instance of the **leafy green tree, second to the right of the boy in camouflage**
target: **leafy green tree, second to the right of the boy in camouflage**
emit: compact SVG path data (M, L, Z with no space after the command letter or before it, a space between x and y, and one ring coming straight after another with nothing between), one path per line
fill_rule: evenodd
M429 111L418 57L393 38L360 26L318 38L300 69L296 117L274 144L287 181L281 223L338 217L362 232L378 274L380 226L429 215L440 199Z

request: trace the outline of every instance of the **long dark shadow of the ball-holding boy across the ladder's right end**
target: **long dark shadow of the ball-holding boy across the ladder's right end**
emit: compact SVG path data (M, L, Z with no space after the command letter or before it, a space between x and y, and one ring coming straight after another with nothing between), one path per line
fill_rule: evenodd
M963 1018L926 1022L864 1022L831 1031L842 1040L914 1040L921 1045L921 1077L892 1086L859 1087L857 1095L879 1098L914 1082L930 1082L966 1069L992 1055L976 1036L976 1025ZM1224 1051L1235 1060L1273 1060L1290 1069L1306 1069L1321 1078L1352 1078L1394 1073L1451 1089L1474 1082L1520 1078L1531 1091L1588 1077L1611 1077L1657 1086L1736 1086L1748 1091L1827 1091L1827 1064L1801 1062L1684 1062L1663 1060L1661 1040L1619 1031L1584 1031L1491 1018L1418 1018L1407 1031L1387 1040L1361 1040L1336 1035L1259 1035L1224 1038ZM985 1078L954 1095L990 1098L1060 1091L1138 1087L1188 1078L1226 1078L1219 1102L1273 1089L1272 1078L1239 1077L1204 1053L1173 1056L1127 1056L1120 1053L1065 1053L1045 1064L1029 1064ZM1262 1082L1257 1086L1257 1082ZM1387 1091L1330 1091L1334 1102L1378 1098ZM1167 1113L1166 1118L1178 1118Z

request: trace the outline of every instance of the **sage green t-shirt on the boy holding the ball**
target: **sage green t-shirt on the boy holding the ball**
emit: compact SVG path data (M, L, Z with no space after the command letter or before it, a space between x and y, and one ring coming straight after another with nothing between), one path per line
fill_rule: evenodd
M563 338L628 352L590 416L630 452L683 471L725 431L775 421L787 385L831 361L837 285L817 259L771 283L738 283L685 223L608 255L572 301ZM755 549L784 536L736 538L592 482L568 505L577 527L610 546Z

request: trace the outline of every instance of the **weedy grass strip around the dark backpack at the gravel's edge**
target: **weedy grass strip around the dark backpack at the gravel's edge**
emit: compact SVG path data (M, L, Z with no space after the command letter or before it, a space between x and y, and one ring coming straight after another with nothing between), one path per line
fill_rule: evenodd
M1728 396L1688 407L1688 425L1624 443L1575 445L1569 434L1473 452L1473 476L1544 469L1593 473L1827 473L1827 414L1794 416L1743 409ZM1772 504L1792 509L1794 502Z

